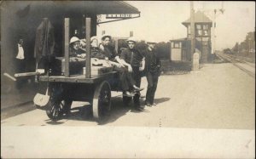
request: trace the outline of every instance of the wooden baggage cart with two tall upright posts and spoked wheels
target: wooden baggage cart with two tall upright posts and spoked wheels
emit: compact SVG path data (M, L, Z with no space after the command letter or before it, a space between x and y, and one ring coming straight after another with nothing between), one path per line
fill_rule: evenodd
M90 42L90 18L86 18L86 41ZM90 73L90 45L86 45L85 75L69 74L69 19L65 25L65 75L55 76L49 72L39 77L39 82L48 82L49 102L46 106L47 116L51 120L59 120L67 114L74 100L88 101L96 120L101 120L111 109L111 91L118 88L119 73L110 71L98 76ZM127 104L131 98L124 97Z

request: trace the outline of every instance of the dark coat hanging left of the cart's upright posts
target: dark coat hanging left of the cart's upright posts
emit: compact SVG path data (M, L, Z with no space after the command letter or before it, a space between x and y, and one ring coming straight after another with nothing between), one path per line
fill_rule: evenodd
M48 18L44 18L38 26L35 42L34 57L38 68L48 70L51 61L55 57L54 27L50 24Z

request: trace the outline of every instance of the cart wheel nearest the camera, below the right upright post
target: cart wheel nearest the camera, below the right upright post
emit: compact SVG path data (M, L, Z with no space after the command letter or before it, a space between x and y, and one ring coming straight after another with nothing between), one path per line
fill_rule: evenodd
M103 116L108 115L111 106L111 89L108 82L104 81L99 86L96 87L93 103L92 103L92 111L93 116L96 120L102 120Z

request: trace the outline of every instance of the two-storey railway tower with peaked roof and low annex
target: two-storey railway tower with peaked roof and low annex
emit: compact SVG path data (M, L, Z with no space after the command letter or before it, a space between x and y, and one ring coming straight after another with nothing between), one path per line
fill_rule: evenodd
M171 40L172 61L191 61L190 18L182 22L187 28L187 37ZM200 63L207 63L212 50L212 20L201 11L195 13L195 51L200 54Z

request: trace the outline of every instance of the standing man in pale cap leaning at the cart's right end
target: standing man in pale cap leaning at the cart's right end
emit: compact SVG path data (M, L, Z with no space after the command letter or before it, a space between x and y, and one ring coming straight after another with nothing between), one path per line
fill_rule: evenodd
M132 72L132 77L135 81L135 85L137 88L136 94L133 97L134 105L137 111L143 111L143 106L140 105L140 88L141 86L141 77L143 67L141 66L141 63L143 62L143 54L141 54L137 49L135 49L135 43L136 40L134 37L130 37L126 40L126 43L128 43L128 49L124 49L121 52L120 59L121 63L125 65L128 68L128 71Z

